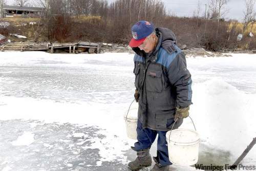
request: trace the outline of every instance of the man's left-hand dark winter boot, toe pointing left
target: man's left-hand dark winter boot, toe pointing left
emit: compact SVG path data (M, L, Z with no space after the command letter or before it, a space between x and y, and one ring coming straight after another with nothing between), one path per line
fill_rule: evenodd
M132 147L135 151L135 148ZM136 171L143 167L151 166L152 159L150 156L150 149L141 149L141 151L137 152L137 158L134 161L131 161L128 166L131 170Z

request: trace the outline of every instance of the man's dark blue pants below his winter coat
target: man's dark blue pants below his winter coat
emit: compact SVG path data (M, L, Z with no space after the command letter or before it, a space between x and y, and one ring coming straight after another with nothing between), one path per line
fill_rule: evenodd
M171 165L168 157L168 147L167 141L165 138L167 131L155 131L148 128L143 129L142 123L138 120L137 124L137 140L134 144L135 150L140 151L141 149L150 148L153 142L157 139L157 160L161 166Z

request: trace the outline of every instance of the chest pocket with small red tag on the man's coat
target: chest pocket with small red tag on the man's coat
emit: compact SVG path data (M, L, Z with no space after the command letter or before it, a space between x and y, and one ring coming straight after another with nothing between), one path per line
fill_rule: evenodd
M150 92L162 92L162 70L148 70L146 73L146 90Z

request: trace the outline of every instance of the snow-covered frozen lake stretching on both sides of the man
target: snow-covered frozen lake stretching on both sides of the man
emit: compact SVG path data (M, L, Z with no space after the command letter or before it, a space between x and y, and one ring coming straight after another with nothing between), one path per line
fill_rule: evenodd
M232 55L187 59L202 164L232 164L256 137L256 55ZM0 170L126 170L133 65L127 53L0 52Z

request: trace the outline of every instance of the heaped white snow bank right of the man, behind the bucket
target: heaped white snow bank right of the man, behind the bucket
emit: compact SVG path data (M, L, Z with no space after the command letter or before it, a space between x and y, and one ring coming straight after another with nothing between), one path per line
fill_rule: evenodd
M201 142L238 158L256 137L256 94L245 94L221 79L211 79L193 86L194 119ZM193 127L185 119L182 127ZM254 147L247 157L256 158Z

